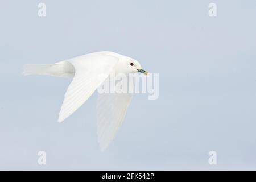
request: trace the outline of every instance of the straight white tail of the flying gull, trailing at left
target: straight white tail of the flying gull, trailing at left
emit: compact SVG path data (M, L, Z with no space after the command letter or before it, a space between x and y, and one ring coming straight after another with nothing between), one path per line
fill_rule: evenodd
M75 69L68 61L61 61L55 64L25 64L23 67L23 75L72 77L74 73Z

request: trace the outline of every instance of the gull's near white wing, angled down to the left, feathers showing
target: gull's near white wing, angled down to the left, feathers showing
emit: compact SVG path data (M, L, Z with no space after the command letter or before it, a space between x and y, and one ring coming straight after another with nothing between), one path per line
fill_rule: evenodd
M75 76L65 93L59 113L59 122L64 121L79 109L118 63L117 57L104 53L92 53L68 61L75 68Z

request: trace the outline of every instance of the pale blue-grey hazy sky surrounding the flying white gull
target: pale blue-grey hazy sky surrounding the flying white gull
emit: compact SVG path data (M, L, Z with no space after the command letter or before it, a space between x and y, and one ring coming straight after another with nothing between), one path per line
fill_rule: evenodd
M0 169L256 169L255 18L254 0L1 0ZM21 74L24 63L97 51L134 57L160 79L159 99L136 94L104 153L96 93L57 123L71 80Z

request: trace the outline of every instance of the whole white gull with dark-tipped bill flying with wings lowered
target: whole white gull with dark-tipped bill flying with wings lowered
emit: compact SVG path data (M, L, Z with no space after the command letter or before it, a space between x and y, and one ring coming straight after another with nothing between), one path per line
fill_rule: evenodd
M112 73L148 72L131 57L115 52L89 53L55 64L26 64L24 75L50 75L73 78L65 93L58 122L73 114ZM104 76L102 76L104 75ZM115 137L130 104L131 94L100 94L97 101L97 136L101 151Z

